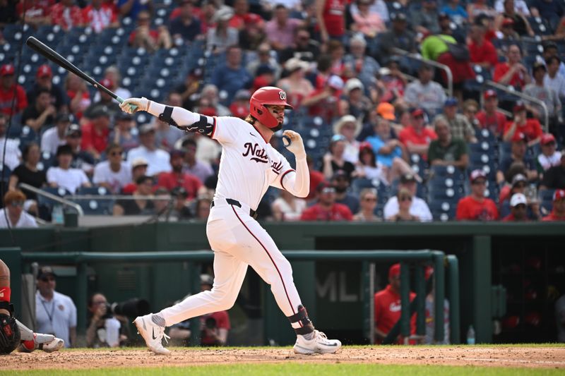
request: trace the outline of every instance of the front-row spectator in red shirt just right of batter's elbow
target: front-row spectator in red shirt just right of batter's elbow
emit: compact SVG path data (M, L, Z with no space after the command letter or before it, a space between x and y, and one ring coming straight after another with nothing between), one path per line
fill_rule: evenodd
M323 182L318 186L319 199L316 205L302 212L301 221L351 221L353 214L346 205L335 202L335 188Z

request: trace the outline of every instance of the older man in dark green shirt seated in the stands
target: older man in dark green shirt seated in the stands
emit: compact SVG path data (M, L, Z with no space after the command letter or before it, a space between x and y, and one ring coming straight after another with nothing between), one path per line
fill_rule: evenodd
M451 135L451 127L444 116L434 120L437 139L429 144L428 162L432 166L455 166L465 170L469 164L467 143Z

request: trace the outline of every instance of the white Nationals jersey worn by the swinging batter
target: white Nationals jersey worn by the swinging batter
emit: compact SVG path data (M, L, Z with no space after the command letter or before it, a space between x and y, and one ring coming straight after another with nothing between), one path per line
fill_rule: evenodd
M230 116L213 119L210 137L222 145L214 199L231 198L256 210L269 186L285 189L283 178L295 170L251 124Z

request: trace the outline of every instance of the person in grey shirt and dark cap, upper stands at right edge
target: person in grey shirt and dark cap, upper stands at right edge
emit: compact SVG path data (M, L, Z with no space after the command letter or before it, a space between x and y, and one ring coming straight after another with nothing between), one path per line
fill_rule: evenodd
M557 131L559 126L558 118L561 116L561 101L559 95L551 87L545 86L544 79L547 68L544 63L535 62L532 68L534 82L525 85L523 93L539 99L545 103L547 116L549 116L549 129ZM537 119L545 119L545 109L535 102L526 102L526 109L529 109Z

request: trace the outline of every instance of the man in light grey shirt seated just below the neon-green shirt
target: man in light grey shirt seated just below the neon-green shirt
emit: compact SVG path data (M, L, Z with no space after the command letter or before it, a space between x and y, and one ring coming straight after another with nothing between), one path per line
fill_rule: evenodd
M429 114L436 114L444 107L446 95L444 88L432 81L434 68L422 64L418 68L418 79L406 87L404 99L411 107L422 107Z

